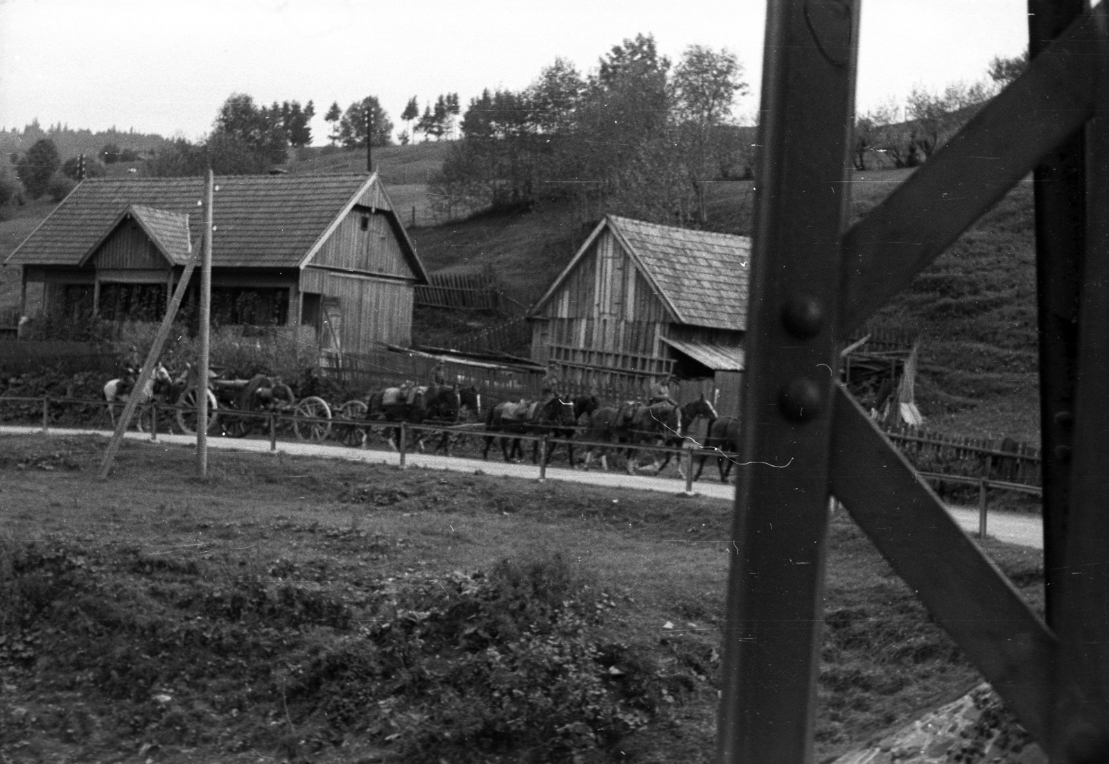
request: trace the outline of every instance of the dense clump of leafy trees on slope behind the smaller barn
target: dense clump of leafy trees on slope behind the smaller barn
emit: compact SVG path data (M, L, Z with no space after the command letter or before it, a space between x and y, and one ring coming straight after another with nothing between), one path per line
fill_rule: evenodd
M474 210L562 197L689 218L702 181L750 176L750 129L732 115L746 91L731 51L691 45L672 65L650 34L586 75L558 58L523 90L470 100L434 191Z

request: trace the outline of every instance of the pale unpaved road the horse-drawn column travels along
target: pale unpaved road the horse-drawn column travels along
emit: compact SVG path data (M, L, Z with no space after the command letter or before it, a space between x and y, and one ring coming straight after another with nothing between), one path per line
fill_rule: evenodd
M42 432L41 427L19 427L0 426L0 435L28 435ZM102 435L105 438L111 432L100 430L82 429L55 429L49 430L50 435ZM128 432L128 438L133 440L144 440L150 442L150 436L142 432ZM192 446L196 442L195 436L186 435L159 435L157 444L173 446ZM211 448L221 448L236 451L269 451L269 441L261 438L218 438L210 437ZM347 461L362 461L373 465L399 465L400 455L396 451L376 451L347 448L345 446L323 446L317 444L277 441L277 451L291 456L325 457L329 459L346 459ZM484 472L485 475L498 475L511 478L522 478L526 480L537 480L539 468L530 464L506 464L503 461L482 461L480 459L462 459L459 457L431 456L428 454L408 454L405 458L406 465L423 469L446 469L459 472ZM634 488L648 491L661 491L663 493L682 495L685 483L682 480L667 478L650 478L642 475L625 475L623 472L582 472L558 467L547 469L548 480L564 480L568 482L588 483L592 486L609 486L619 488ZM731 501L735 495L732 486L721 485L711 481L698 481L693 483L694 492ZM967 532L978 530L978 510L962 507L948 507L952 517L958 521ZM999 541L1019 543L1036 549L1044 548L1044 527L1040 518L1032 515L1017 512L990 512L987 521L987 532Z

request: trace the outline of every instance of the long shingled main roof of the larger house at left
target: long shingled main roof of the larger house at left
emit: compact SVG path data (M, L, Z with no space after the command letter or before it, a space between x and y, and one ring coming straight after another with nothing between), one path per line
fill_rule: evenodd
M418 278L426 279L376 175L230 175L215 179L215 185L214 266L298 267L354 204L373 192L373 205L394 217L393 227L409 264ZM180 215L189 216L191 238L200 241L203 195L202 177L82 181L4 265L78 265L99 246L105 227L114 225L129 207L147 208L136 217L160 245L180 245L182 232L171 222Z

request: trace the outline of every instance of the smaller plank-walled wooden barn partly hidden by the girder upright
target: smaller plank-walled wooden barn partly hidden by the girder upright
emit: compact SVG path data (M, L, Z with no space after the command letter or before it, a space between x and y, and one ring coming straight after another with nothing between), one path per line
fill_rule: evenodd
M529 312L532 360L609 396L673 374L682 403L735 414L750 257L746 236L608 215Z

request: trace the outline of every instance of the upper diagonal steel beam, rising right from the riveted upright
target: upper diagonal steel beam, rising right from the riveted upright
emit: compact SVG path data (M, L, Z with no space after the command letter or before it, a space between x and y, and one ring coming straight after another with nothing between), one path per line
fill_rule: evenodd
M1092 21L1080 18L847 232L844 337L1090 118L1092 49Z

